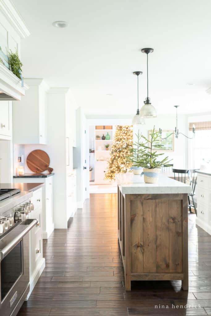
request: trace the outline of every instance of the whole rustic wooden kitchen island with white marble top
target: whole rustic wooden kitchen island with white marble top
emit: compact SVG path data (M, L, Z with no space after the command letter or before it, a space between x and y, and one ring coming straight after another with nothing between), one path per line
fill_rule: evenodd
M188 289L189 185L160 176L157 184L118 185L118 239L125 287L133 280L182 280Z

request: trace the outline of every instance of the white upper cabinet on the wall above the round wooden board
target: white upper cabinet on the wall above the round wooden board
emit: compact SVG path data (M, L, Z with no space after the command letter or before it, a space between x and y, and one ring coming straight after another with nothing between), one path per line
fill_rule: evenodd
M47 144L46 92L43 79L25 79L30 87L25 97L13 102L13 142L16 144Z

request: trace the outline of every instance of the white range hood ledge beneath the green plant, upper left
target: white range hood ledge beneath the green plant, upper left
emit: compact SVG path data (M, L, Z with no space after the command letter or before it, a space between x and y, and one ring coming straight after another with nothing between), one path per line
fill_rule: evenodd
M25 91L28 90L28 88L29 87L26 84L22 87L21 80L3 64L0 64L0 91L10 96L5 97L6 100L20 101L21 96L25 95ZM4 97L1 98L0 94L0 100L5 99Z

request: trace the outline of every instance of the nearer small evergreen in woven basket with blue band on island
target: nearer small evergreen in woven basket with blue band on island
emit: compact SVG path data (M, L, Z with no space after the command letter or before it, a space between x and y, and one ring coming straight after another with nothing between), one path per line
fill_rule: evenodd
M164 154L158 154L152 148L162 148L163 145L159 143L160 134L155 131L155 126L149 134L149 139L141 135L144 142L139 142L139 158L136 161L136 166L143 167L144 181L145 183L157 183L159 178L160 168L163 165L167 165L171 160L168 160L168 156L159 160L159 156ZM131 149L133 150L133 149ZM130 157L127 158L131 162Z

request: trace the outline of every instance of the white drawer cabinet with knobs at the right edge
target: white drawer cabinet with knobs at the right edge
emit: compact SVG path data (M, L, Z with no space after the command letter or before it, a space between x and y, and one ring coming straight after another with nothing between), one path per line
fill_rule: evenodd
M211 234L211 175L198 173L197 187L196 224Z

